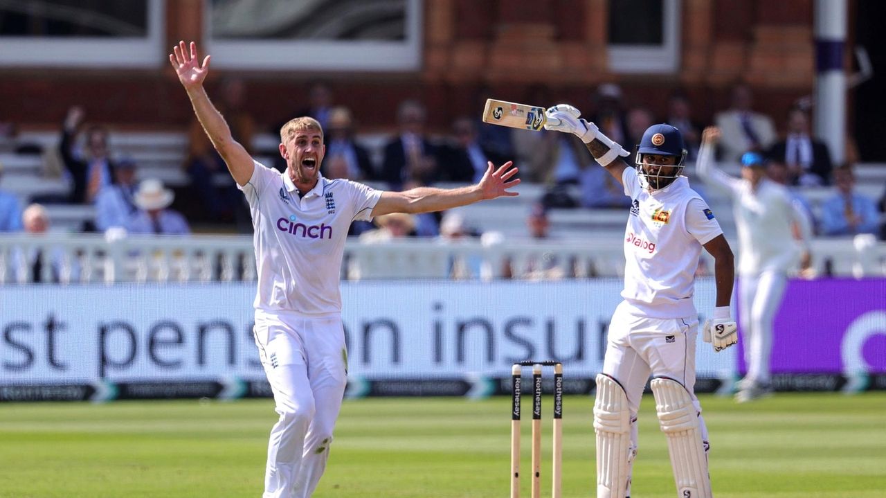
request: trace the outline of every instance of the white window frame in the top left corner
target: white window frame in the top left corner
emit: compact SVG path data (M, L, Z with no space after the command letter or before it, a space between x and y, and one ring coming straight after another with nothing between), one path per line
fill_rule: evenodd
M163 64L165 0L147 0L147 34L92 38L0 36L0 66L152 68Z

